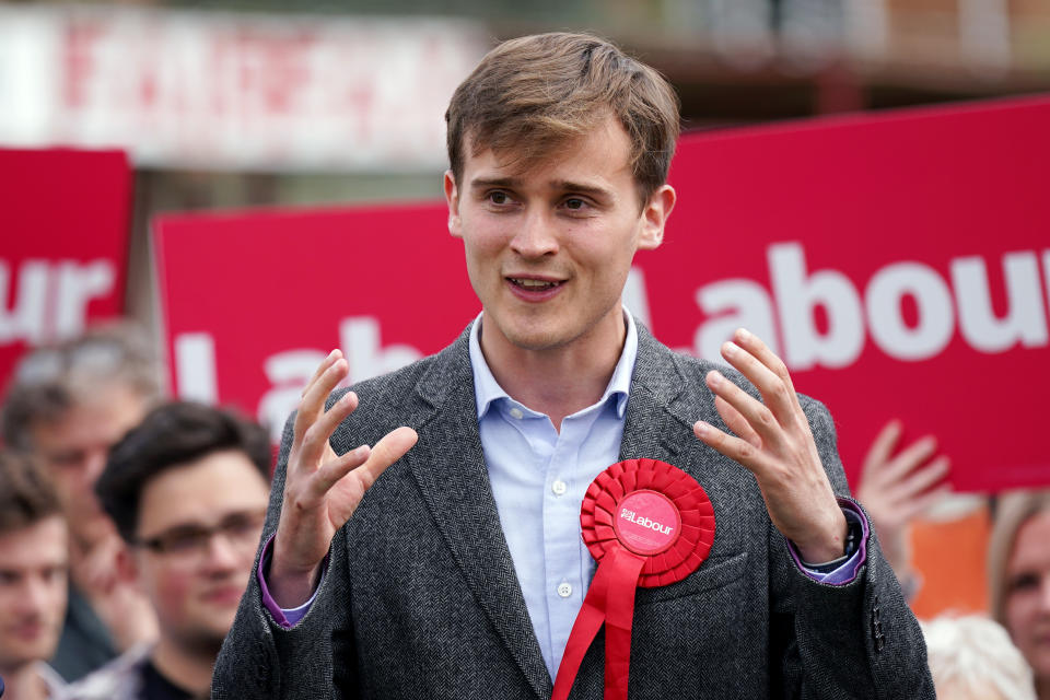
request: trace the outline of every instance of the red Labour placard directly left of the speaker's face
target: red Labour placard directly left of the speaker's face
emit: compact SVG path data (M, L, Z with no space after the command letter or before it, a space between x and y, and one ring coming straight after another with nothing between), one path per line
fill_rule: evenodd
M481 308L446 219L435 203L162 218L172 387L278 438L331 348L351 381L441 350Z

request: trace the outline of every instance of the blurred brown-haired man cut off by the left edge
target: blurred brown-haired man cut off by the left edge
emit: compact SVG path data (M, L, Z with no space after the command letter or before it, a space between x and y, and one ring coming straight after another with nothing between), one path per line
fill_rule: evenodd
M55 487L24 455L0 452L0 677L5 700L65 687L46 660L66 612L69 541Z

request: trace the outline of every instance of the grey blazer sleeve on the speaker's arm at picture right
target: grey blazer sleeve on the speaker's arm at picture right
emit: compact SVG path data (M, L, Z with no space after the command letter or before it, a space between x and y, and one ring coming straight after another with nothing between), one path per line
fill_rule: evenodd
M819 401L800 399L836 495L849 497L831 416ZM800 571L784 537L770 530L771 651L781 658L785 697L935 698L922 631L874 529L864 565L844 585Z

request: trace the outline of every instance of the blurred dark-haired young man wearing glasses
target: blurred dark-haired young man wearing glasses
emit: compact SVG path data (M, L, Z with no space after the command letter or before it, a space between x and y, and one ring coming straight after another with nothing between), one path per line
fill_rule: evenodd
M261 427L189 402L154 409L113 447L95 492L128 544L119 575L145 593L160 638L74 684L71 699L207 695L262 532L270 459Z

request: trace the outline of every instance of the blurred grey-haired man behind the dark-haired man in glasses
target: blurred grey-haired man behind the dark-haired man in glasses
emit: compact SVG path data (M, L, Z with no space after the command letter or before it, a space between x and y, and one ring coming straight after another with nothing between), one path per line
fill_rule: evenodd
M156 635L149 603L114 575L122 547L92 487L106 453L161 396L148 338L129 326L26 355L3 406L3 441L34 455L70 528L69 609L52 665L74 680Z

